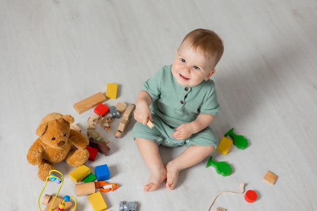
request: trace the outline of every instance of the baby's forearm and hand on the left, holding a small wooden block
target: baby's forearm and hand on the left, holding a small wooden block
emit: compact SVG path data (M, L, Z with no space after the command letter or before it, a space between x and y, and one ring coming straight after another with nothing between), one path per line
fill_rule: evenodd
M134 111L134 118L143 125L146 124L147 119L153 121L151 110L149 108L149 105L151 105L151 103L152 98L147 92L139 92Z

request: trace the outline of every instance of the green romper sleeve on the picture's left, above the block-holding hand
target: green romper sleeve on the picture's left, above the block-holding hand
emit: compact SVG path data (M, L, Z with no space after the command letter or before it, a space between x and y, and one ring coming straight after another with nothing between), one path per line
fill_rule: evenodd
M163 68L157 71L152 77L144 81L141 91L145 91L155 101L160 98L161 95L161 80L162 80Z

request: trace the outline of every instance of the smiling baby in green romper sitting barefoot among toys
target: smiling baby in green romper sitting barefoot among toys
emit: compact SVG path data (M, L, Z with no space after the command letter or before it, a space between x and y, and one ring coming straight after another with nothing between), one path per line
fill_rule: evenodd
M156 190L166 180L174 189L181 170L193 166L217 147L210 128L220 106L210 77L223 54L220 37L207 29L189 32L176 51L173 64L164 66L143 83L137 96L133 138L151 172L144 191ZM151 120L154 128L146 123ZM165 165L159 145L185 150Z

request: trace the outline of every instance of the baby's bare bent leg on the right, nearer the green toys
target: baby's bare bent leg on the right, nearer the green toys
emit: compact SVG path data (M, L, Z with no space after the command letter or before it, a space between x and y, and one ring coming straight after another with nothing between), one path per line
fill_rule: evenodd
M174 189L178 180L178 173L185 168L203 161L214 149L214 146L189 146L174 160L166 163L166 187L170 190Z

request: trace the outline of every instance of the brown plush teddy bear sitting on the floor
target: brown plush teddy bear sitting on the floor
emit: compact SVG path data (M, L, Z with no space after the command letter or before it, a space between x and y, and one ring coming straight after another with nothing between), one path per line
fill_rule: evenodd
M27 153L27 161L38 165L38 178L45 181L54 163L65 160L70 166L83 165L89 158L86 149L88 140L75 130L70 129L74 122L71 115L50 113L39 123L35 133L39 136Z

